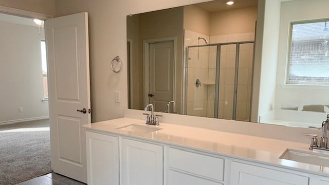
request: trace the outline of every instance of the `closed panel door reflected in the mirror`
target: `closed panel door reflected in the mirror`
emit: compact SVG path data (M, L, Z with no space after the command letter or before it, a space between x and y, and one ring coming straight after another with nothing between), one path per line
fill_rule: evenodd
M174 41L151 43L149 46L149 99L155 111L166 111L174 100Z

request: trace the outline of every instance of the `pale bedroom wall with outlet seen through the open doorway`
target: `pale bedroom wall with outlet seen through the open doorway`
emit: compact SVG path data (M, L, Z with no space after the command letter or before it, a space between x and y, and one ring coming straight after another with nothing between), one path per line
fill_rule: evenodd
M0 123L46 118L39 27L0 21ZM23 107L23 112L19 112Z

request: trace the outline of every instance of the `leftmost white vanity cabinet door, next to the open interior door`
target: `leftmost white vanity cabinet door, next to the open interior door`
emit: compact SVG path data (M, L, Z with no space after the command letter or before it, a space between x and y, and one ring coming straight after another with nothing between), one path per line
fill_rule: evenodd
M86 132L88 184L119 184L119 139Z

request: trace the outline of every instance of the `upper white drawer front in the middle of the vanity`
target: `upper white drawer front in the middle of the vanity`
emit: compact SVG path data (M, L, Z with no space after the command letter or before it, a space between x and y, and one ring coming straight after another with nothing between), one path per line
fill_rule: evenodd
M169 168L214 180L224 180L224 159L169 148Z

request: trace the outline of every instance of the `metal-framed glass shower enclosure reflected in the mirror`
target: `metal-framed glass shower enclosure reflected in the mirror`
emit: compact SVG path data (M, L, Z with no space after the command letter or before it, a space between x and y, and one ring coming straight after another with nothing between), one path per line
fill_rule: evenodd
M253 41L187 47L187 115L250 121Z

